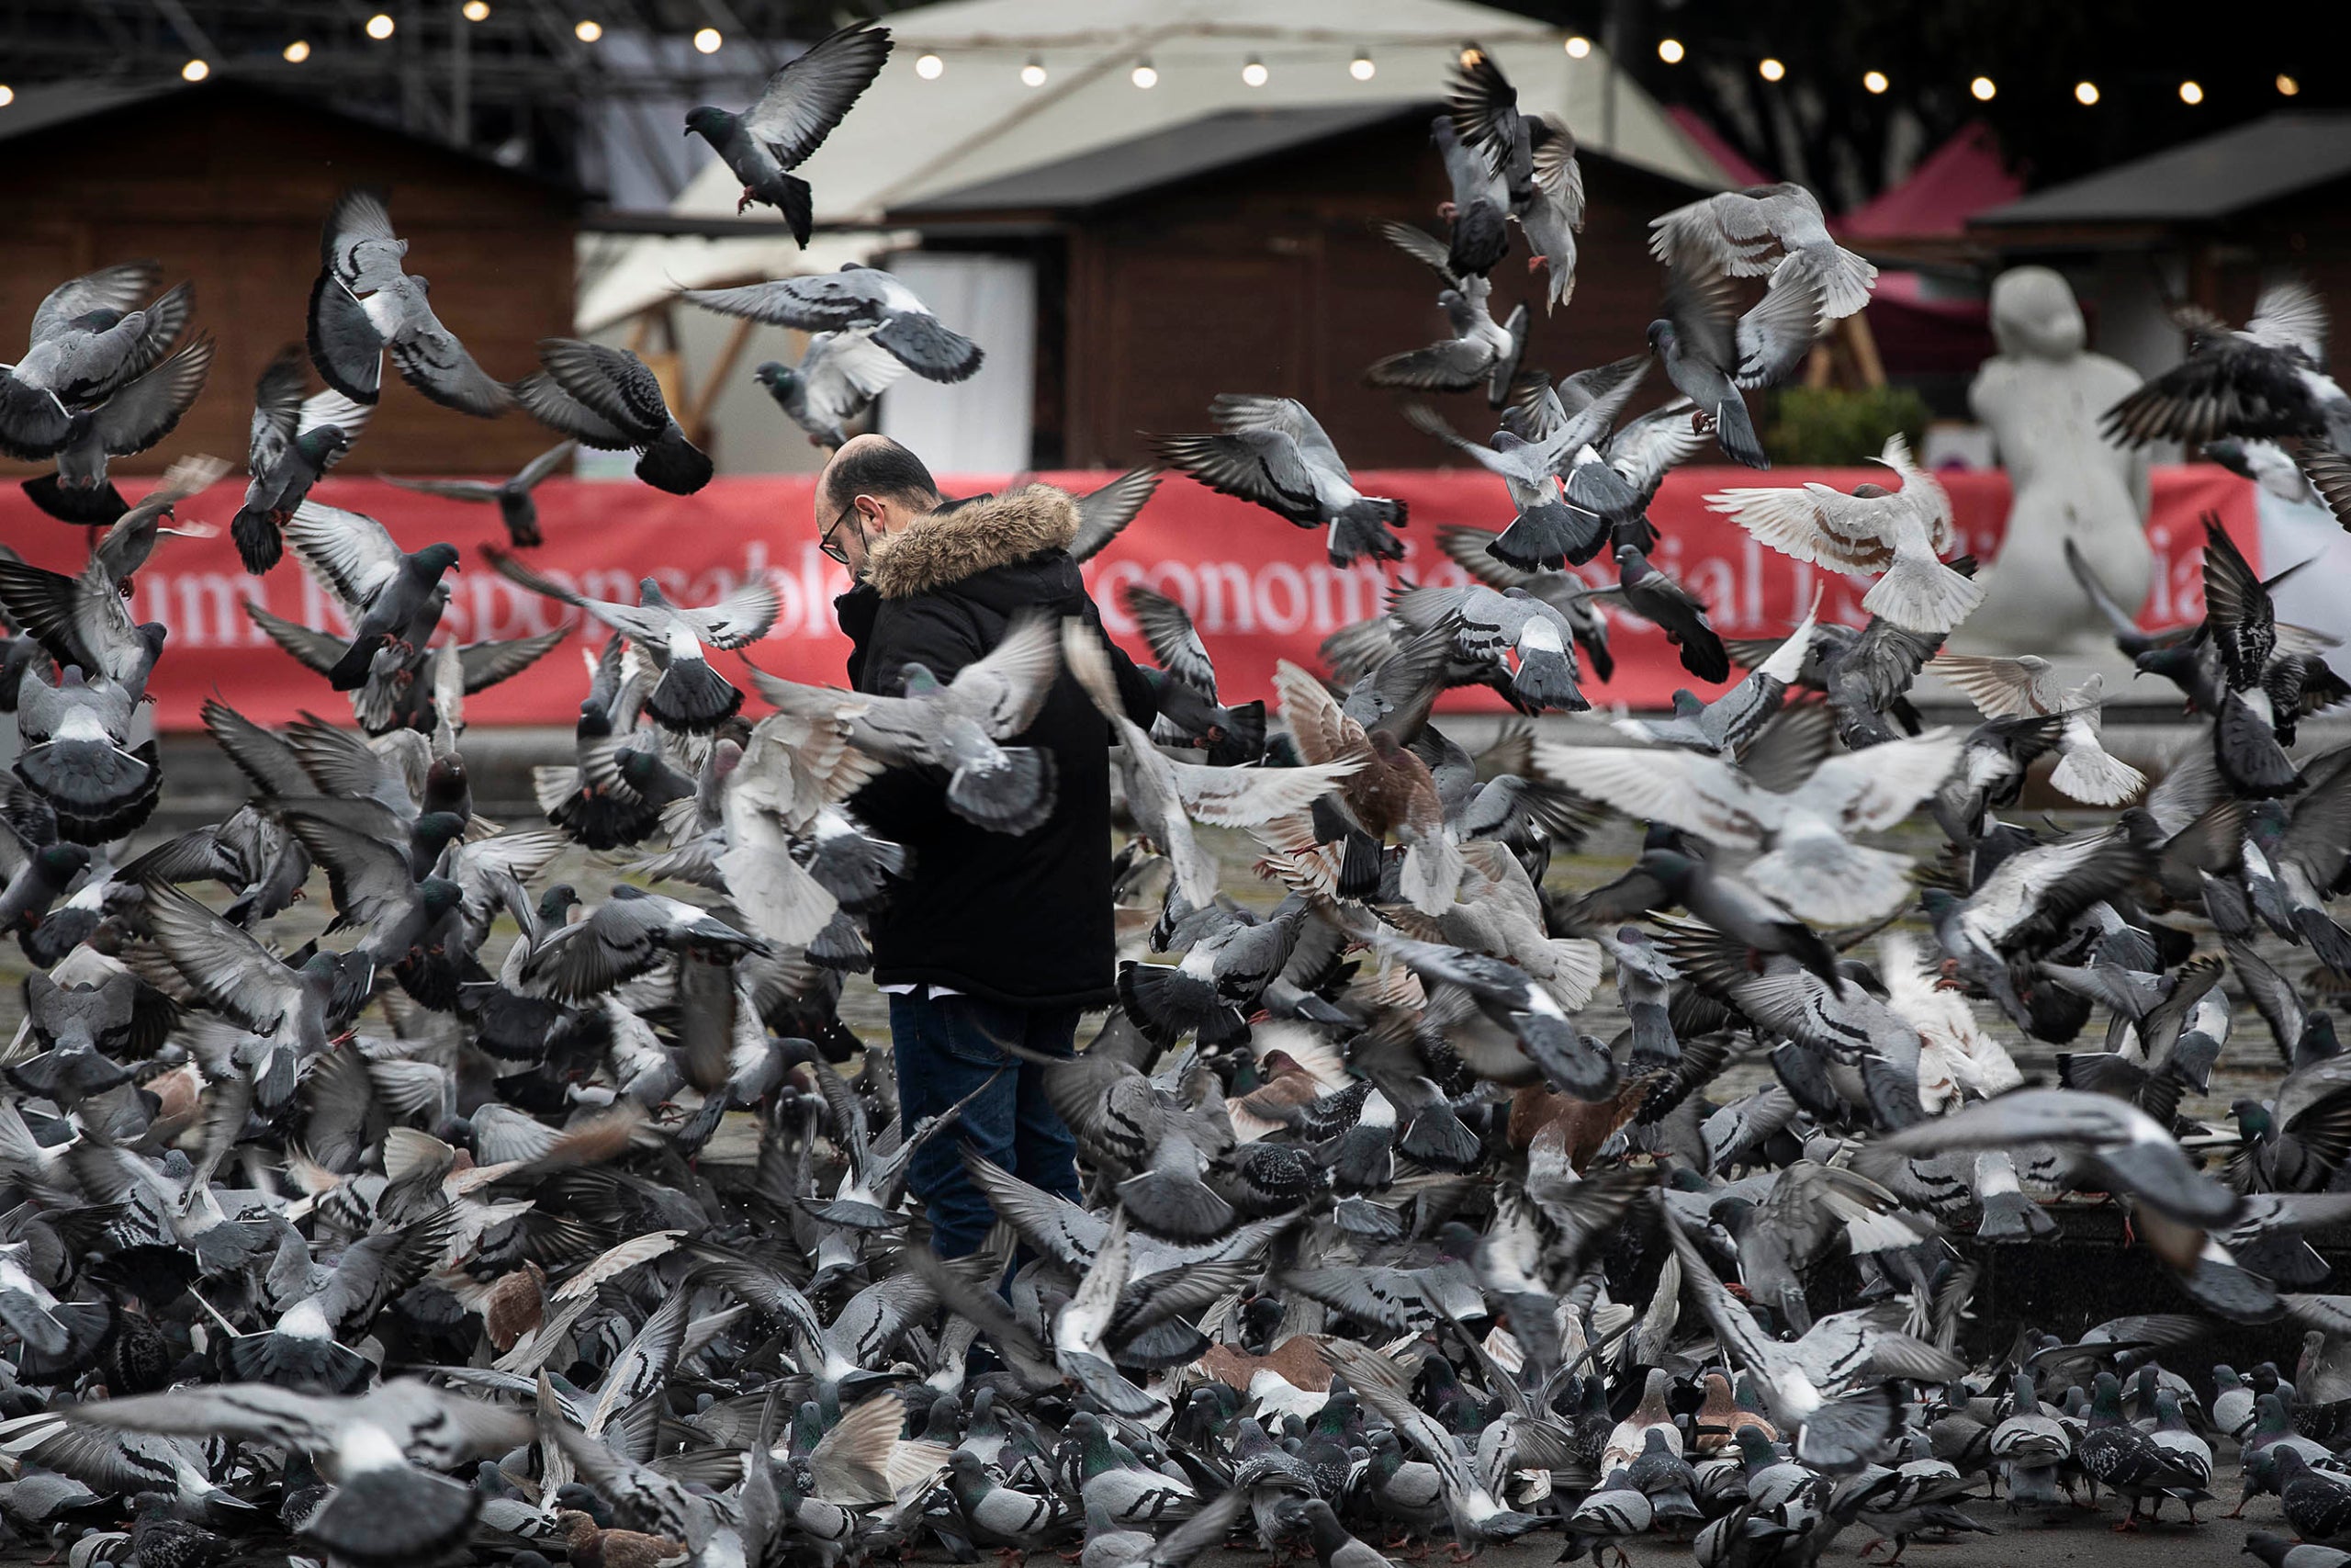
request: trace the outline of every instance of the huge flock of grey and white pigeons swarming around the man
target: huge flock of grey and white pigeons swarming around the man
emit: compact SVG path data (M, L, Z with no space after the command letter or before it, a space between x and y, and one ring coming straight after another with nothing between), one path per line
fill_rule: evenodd
M804 221L790 167L886 49L849 28L750 113L701 108L691 129L745 200ZM522 383L489 378L381 202L339 202L308 348L261 383L233 529L254 571L292 548L346 607L348 637L256 618L355 726L270 731L209 703L252 797L129 856L162 790L129 729L165 654L129 583L223 465L183 458L125 505L106 458L172 428L209 343L179 343L188 287L150 299L153 268L59 287L0 371L0 444L54 456L28 489L106 531L78 576L0 562L0 705L24 743L0 931L35 966L0 1053L7 1528L75 1568L205 1568L287 1537L362 1566L1070 1544L1086 1568L1178 1568L1232 1535L1380 1568L1373 1540L1474 1554L1538 1530L1563 1561L1667 1533L1709 1568L1768 1568L1853 1526L1897 1554L1980 1530L1970 1497L2043 1516L2104 1486L2130 1500L2116 1528L2175 1500L2193 1519L2233 1446L2245 1495L2273 1493L2295 1535L2351 1535L2351 1298L2323 1293L2302 1237L2351 1218L2351 1056L2276 966L2299 945L2351 973L2327 907L2351 879L2351 757L2290 755L2297 719L2346 696L2323 639L2276 621L2217 522L2196 623L2144 632L2083 571L2137 670L2208 726L2149 788L2099 745L2095 686L1937 654L1972 567L1942 559L1949 505L1900 442L1900 489L1714 498L1777 550L1878 574L1871 621L1716 637L1648 559L1643 505L1707 430L1761 463L1740 388L1857 310L1867 263L1794 186L1657 219L1650 350L1688 402L1620 423L1648 355L1552 383L1519 369L1523 313L1500 329L1486 308L1512 223L1549 301L1573 289L1566 132L1472 54L1436 141L1451 235L1394 237L1444 273L1455 331L1373 376L1507 407L1491 444L1453 437L1516 510L1502 534L1441 531L1469 585L1399 583L1326 646L1335 679L1281 665L1277 724L1223 705L1183 607L1140 590L1150 733L1100 646L1044 621L903 698L755 670L773 712L748 719L705 649L766 632L764 585L686 607L647 581L614 604L489 550L604 632L536 823L475 813L463 698L562 632L435 644L458 552L404 552L308 489L381 397L383 355L437 402L527 407L694 489L708 461L651 374L567 341ZM1768 280L1744 315L1728 277ZM701 303L823 329L762 378L828 442L891 367L978 362L863 268ZM2201 324L2118 428L2327 475L2351 409L2320 329L2295 287L2245 331ZM306 393L306 364L327 390ZM1404 508L1357 494L1295 402L1230 397L1218 423L1166 456L1328 527L1338 557L1399 550ZM496 503L529 548L557 461L442 494ZM1077 550L1150 484L1089 498ZM1617 588L1563 571L1601 550ZM1610 668L1601 597L1662 625L1697 679L1747 675L1481 755L1432 722L1462 684L1585 708L1580 658ZM1018 733L1063 670L1119 738L1119 929L1178 961L1126 964L1121 1006L1049 1072L1086 1201L971 1161L1002 1227L943 1262L905 1175L955 1117L903 1128L886 1053L844 1072L842 976L907 867L853 795L910 766L973 820L1027 820L1006 795L1051 780ZM1921 729L1921 670L1984 722ZM2041 757L2111 820L2003 818ZM1648 825L1639 860L1547 886L1608 811ZM1921 811L1942 837L1925 865L1874 839ZM1248 827L1279 903L1223 896L1197 823ZM569 853L632 882L595 907L541 886ZM334 924L287 950L273 922L313 870ZM2179 1103L2229 1046L2224 978L2285 1072L2203 1128ZM1625 1027L1601 1039L1580 1018L1608 992ZM2078 1044L2057 1086L2022 1081L2015 1034ZM1768 1074L1730 1093L1733 1063ZM752 1159L701 1159L731 1112ZM2055 1229L2055 1192L2125 1206L2175 1309L1975 1345L1984 1251ZM2210 1319L2299 1321L2304 1356L2191 1385L2179 1356ZM2259 1530L2245 1549L2351 1561Z

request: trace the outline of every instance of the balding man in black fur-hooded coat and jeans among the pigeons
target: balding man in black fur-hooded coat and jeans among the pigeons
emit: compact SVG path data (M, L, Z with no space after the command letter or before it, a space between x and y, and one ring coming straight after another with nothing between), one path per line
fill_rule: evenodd
M856 644L849 682L896 696L905 665L940 682L1002 642L1011 618L1041 609L1100 628L1070 559L1077 503L1032 484L943 503L929 468L879 435L844 444L816 484L828 555L858 583L835 599ZM1114 646L1119 696L1138 724L1152 689ZM1020 835L990 832L945 809L943 780L891 771L851 809L912 851L912 872L872 917L875 985L889 992L905 1126L976 1095L962 1126L915 1154L910 1185L945 1258L976 1251L994 1211L964 1173L959 1147L1074 1199L1070 1128L1044 1093L1044 1067L1070 1056L1077 1016L1114 1006L1110 910L1110 726L1063 672L1037 722L1009 745L1051 755L1051 816Z

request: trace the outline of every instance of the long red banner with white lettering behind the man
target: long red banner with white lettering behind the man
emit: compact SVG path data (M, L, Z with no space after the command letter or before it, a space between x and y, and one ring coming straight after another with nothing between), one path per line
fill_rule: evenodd
M1110 475L1046 475L1072 489ZM1737 524L1704 510L1704 496L1735 484L1801 484L1820 480L1850 489L1883 470L1770 470L1686 468L1667 477L1650 505L1665 534L1657 564L1674 571L1712 607L1714 628L1726 637L1784 632L1813 597L1813 567L1759 545ZM947 489L969 494L999 480L955 475ZM1968 548L1991 559L2008 517L2008 480L2001 473L1942 475L1951 491ZM1340 625L1378 614L1387 583L1460 583L1462 571L1434 548L1444 522L1500 529L1509 522L1502 484L1483 473L1394 470L1364 473L1368 494L1411 503L1404 529L1408 557L1385 574L1359 564L1338 571L1324 559L1319 529L1293 529L1272 512L1168 477L1133 524L1086 564L1086 581L1110 630L1133 651L1143 639L1119 611L1124 583L1147 583L1190 611L1218 665L1227 703L1272 696L1277 658L1321 668L1317 644ZM148 691L162 729L193 729L197 708L212 693L256 719L282 722L308 708L341 719L343 703L324 682L301 670L245 616L247 599L292 621L341 630L343 616L329 595L292 559L254 578L237 564L228 541L242 482L223 482L179 508L179 517L221 527L219 538L172 538L139 574L132 614L172 628L162 665ZM143 484L125 484L136 496ZM696 496L663 496L632 480L548 480L538 489L538 515L548 543L531 550L531 564L600 599L637 599L637 578L651 576L670 599L703 604L752 574L766 574L783 599L776 628L745 654L802 682L842 684L846 639L832 625L832 597L846 588L839 567L816 552L811 517L813 477L717 480ZM527 637L550 625L576 623L571 611L527 592L487 567L482 543L503 543L496 510L463 505L397 489L381 480L329 480L317 498L383 520L402 548L433 541L465 552L454 576L442 635L461 642ZM2146 623L2170 625L2201 611L2201 543L2196 515L2217 510L2245 552L2259 564L2252 487L2212 465L2158 468L2149 541L2156 548L2156 588ZM87 559L85 529L40 515L14 487L0 491L0 538L26 559L56 571L80 571ZM1592 562L1594 585L1615 581L1613 562ZM1822 616L1860 623L1867 583L1827 581ZM1695 686L1674 649L1646 621L1610 611L1615 679L1599 684L1585 672L1596 705L1662 705L1676 686ZM571 642L524 675L484 691L465 705L475 724L571 724L585 691L581 649ZM726 670L731 656L715 656ZM1712 693L1712 689L1707 689ZM1451 693L1453 708L1500 708L1483 691Z

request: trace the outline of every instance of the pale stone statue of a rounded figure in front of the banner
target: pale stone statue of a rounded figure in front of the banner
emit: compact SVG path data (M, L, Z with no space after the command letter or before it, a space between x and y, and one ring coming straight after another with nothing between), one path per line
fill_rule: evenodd
M1984 571L1984 602L1951 637L1970 654L2114 658L2064 562L2071 538L2123 604L2146 602L2146 458L2111 444L2099 416L2139 386L2137 371L2083 350L2081 306L2064 277L2020 266L1991 282L2001 353L1968 388L2008 470L2008 536Z

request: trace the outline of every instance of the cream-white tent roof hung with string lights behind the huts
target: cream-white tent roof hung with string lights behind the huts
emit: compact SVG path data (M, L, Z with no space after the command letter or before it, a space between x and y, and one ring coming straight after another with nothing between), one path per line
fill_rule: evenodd
M853 233L835 228L806 252L790 237L585 235L583 331L679 287L870 261L905 242L879 228L893 207L1215 110L1441 99L1465 42L1493 54L1519 103L1566 120L1580 146L1697 186L1730 183L1629 78L1615 80L1610 113L1599 45L1578 59L1566 31L1460 0L947 0L886 21L898 40L889 63L799 169L816 188L816 219ZM1349 73L1359 52L1371 80ZM924 54L943 63L936 80L915 68ZM1253 56L1265 87L1241 80ZM1030 61L1046 71L1041 87L1020 80ZM1133 85L1143 61L1157 73L1150 89ZM712 158L670 209L731 214L738 197Z

